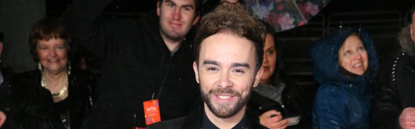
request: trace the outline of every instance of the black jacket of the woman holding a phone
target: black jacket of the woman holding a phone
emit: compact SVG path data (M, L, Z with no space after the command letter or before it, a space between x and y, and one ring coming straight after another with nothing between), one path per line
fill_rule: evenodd
M284 105L253 91L251 93L250 101L248 101L248 111L250 111L257 120L259 120L260 115L269 110L281 112L284 118L289 116L300 116L301 119L297 125L288 126L287 128L311 128L310 111L304 105L297 85L288 78L284 71L276 72L275 74L278 75L272 76L272 78L274 78L271 81L272 85L285 84L285 88L281 95L281 100ZM261 87L261 85L263 84L260 83L258 87Z

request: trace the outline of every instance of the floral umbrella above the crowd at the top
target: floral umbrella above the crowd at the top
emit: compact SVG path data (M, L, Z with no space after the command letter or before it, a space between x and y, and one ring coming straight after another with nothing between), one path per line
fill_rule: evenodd
M281 32L301 26L331 0L244 0L253 14Z

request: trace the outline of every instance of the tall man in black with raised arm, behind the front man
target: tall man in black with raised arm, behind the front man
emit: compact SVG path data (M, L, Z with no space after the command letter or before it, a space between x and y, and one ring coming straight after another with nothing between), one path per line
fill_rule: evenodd
M192 77L189 31L198 0L159 0L140 19L103 19L112 0L74 1L63 16L73 41L101 59L97 106L87 128L145 127L143 103L158 100L161 120L187 115L201 103Z

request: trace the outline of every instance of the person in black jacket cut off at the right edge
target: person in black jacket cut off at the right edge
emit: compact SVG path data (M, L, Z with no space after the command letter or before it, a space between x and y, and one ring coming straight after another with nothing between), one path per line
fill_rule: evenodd
M372 106L373 128L415 128L415 6L399 33L401 49L385 58Z

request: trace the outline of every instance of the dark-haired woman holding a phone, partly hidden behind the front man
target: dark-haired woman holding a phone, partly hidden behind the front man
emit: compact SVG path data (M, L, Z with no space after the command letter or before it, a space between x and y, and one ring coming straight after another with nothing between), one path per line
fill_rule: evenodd
M309 128L297 85L285 72L280 47L274 40L275 32L269 24L263 24L267 30L262 61L264 72L260 84L251 93L248 109L268 128ZM289 124L290 116L300 122L293 118Z

